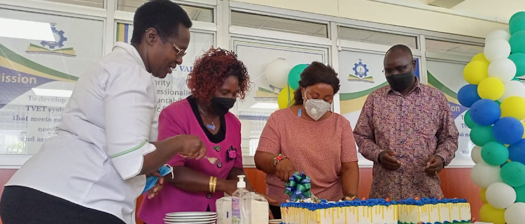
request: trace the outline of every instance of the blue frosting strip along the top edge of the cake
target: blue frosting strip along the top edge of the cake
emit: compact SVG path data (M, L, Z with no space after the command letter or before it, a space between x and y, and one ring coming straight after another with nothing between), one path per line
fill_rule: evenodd
M391 204L409 204L409 205L423 205L423 204L439 204L439 203L465 203L467 200L464 199L437 199L437 198L421 198L420 200L407 199L398 201L387 201L384 199L367 199L367 200L351 200L351 201L339 201L339 202L328 202L327 200L320 200L318 203L311 202L284 202L281 207L297 207L303 209L309 209L315 211L317 209L328 209L333 207L355 207L355 206L376 206L384 205L389 206Z

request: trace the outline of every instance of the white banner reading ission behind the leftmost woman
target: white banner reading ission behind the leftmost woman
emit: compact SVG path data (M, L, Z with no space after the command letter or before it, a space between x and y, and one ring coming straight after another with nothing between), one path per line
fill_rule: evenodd
M0 38L0 154L31 155L55 135L74 83L102 57L102 21L0 9L45 22L55 41ZM89 43L89 44L87 44Z

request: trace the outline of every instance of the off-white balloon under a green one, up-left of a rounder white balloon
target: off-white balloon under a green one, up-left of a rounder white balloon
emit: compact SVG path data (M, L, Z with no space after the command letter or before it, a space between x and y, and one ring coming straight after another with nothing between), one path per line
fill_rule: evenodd
M484 161L480 161L472 170L470 170L470 178L472 182L480 188L488 188L491 184L496 182L503 182L500 177L500 166L493 166L486 164Z

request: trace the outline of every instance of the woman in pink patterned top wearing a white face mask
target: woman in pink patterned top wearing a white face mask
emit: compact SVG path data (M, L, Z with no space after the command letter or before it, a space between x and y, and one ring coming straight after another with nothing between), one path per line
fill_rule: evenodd
M296 171L311 177L311 193L331 201L356 197L359 169L350 122L330 112L339 79L330 66L314 62L301 74L295 105L268 119L255 152L255 165L267 174L270 209L280 218L287 199L284 183Z

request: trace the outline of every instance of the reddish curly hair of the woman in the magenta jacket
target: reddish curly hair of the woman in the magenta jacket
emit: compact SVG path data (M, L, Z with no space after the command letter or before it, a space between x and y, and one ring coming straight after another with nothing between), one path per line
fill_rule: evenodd
M246 67L234 52L211 47L195 61L193 70L188 75L188 89L195 98L209 102L215 91L230 76L239 79L237 97L244 100L250 88L250 76Z

